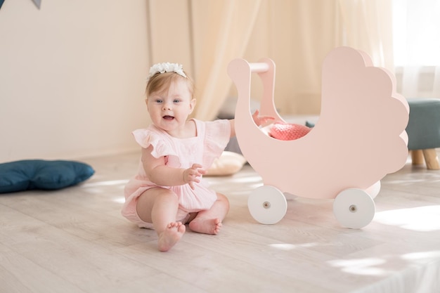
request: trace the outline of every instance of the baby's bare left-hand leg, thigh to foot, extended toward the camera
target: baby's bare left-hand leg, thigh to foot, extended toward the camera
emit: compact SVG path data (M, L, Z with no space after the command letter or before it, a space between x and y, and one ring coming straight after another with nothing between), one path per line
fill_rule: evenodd
M171 190L151 188L146 190L136 204L136 212L142 221L153 223L159 240L157 246L161 252L167 252L185 233L185 225L176 222L179 199Z

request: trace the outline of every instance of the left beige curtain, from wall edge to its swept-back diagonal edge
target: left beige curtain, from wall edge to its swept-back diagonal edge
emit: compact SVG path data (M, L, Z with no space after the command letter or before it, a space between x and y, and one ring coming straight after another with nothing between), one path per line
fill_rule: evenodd
M195 81L193 116L213 119L228 96L229 61L243 56L261 0L148 0L150 64L181 63Z

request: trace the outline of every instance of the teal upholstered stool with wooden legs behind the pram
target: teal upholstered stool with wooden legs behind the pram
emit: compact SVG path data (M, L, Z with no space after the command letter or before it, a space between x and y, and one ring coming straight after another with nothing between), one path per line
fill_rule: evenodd
M436 148L440 148L440 99L408 99L410 115L406 133L408 150L413 164L423 164L427 169L440 169Z

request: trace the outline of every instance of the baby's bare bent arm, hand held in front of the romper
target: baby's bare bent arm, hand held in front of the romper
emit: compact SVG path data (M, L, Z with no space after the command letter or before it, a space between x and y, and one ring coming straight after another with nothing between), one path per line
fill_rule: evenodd
M188 169L173 168L165 165L164 157L155 158L151 155L153 146L142 149L142 165L148 179L162 186L176 186L188 183L194 189L194 183L199 183L199 177L206 174L202 165L193 164Z

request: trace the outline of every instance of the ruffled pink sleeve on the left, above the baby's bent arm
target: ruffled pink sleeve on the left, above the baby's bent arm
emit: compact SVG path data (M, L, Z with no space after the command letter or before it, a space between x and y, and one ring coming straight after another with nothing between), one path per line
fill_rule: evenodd
M151 155L155 158L164 156L178 158L172 148L172 141L166 136L158 134L156 131L152 131L151 129L137 129L133 131L133 136L135 141L141 145L142 148L148 148L150 145L153 145Z

